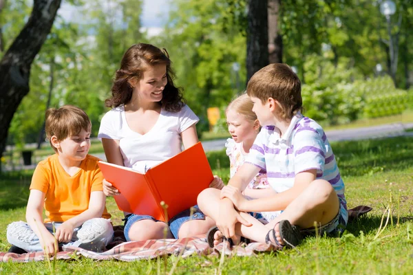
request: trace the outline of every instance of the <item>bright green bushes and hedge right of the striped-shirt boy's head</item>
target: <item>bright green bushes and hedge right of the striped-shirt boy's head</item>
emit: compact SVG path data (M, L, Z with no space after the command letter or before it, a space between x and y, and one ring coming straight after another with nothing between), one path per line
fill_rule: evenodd
M348 68L344 58L336 67L311 56L304 67L307 82L301 95L305 115L324 125L397 115L412 106L411 94L396 89L390 77L363 80L357 69Z

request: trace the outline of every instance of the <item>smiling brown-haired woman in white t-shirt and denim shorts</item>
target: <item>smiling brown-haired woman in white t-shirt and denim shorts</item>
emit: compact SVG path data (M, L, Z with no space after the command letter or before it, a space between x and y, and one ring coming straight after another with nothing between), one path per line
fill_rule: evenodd
M125 52L112 97L106 100L113 109L102 118L98 134L108 162L145 172L180 153L182 144L188 148L198 142L195 124L199 119L173 85L174 77L165 49L139 43ZM211 186L221 183L215 178ZM105 195L118 194L107 181L103 189ZM169 224L149 215L125 213L125 237L127 241L162 239L165 228L167 237L176 239L206 233L214 222L195 209L192 218L187 210Z

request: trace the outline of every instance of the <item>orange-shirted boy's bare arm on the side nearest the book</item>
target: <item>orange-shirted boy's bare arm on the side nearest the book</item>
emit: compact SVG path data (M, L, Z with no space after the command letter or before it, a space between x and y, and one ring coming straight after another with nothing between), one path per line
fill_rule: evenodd
M56 239L59 242L69 242L72 239L74 228L81 226L85 221L94 218L102 217L103 210L105 209L105 194L103 191L94 191L90 193L89 208L78 214L72 219L68 219L62 223L58 230L56 230Z

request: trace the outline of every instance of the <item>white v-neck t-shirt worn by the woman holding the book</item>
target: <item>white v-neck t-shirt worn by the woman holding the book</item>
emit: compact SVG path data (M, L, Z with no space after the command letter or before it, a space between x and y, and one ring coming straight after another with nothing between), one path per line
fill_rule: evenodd
M124 166L145 173L152 166L180 153L180 133L198 121L199 118L187 105L177 113L162 108L156 124L141 135L129 128L125 106L120 105L105 113L100 121L98 138L119 140Z

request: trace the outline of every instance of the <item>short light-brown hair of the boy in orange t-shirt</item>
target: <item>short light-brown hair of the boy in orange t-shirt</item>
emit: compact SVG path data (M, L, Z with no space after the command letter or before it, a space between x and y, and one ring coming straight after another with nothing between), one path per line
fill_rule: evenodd
M59 109L47 109L45 131L48 140L53 135L56 135L59 141L65 140L66 137L77 135L82 129L85 131L92 129L92 122L82 109L72 105L65 105ZM54 151L57 150L51 141L50 145Z

